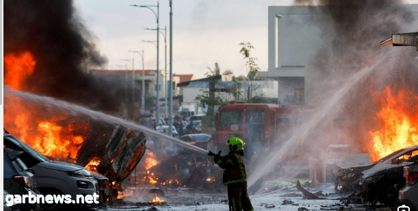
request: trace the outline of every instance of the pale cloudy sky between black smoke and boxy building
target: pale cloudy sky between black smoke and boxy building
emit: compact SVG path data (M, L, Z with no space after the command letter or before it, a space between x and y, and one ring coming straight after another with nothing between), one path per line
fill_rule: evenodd
M418 3L408 0L406 3ZM129 5L156 5L155 0L76 0L78 16L90 30L96 47L108 62L104 69L157 68L157 48L142 40L157 40L157 21L151 10ZM159 1L159 27L167 26L167 71L169 71L169 3ZM267 71L267 8L293 5L292 0L173 0L173 73L205 77L218 62L221 72L246 75L240 42L250 42L260 71ZM163 31L164 33L164 31ZM159 69L164 71L164 36L159 36Z

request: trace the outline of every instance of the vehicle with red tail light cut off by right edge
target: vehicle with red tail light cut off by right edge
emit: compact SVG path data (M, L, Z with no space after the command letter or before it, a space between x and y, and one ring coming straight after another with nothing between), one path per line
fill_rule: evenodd
M418 165L405 166L406 186L399 192L399 203L418 210Z

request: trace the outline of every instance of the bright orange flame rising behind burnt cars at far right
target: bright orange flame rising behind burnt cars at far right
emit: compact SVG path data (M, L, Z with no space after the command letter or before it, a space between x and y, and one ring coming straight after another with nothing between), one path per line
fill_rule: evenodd
M418 145L418 97L410 96L410 93L401 91L393 96L391 88L387 87L382 93L384 106L377 116L383 121L382 129L369 132L373 140L374 155L372 160L378 160L389 155L393 151ZM406 101L415 99L415 108L408 108ZM409 106L410 107L410 106ZM407 111L415 110L415 114Z

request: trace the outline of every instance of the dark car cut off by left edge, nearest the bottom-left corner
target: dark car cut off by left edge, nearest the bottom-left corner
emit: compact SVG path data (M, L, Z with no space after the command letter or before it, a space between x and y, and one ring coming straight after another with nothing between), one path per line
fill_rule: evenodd
M11 195L37 195L34 174L19 158L22 154L22 151L3 149L3 189ZM17 205L19 210L40 210L38 203L25 202Z

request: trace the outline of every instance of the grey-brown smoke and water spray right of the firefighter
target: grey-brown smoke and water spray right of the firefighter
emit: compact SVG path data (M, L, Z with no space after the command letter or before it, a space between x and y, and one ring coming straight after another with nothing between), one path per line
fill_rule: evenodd
M297 126L283 145L272 150L267 162L263 160L257 165L248 186L257 184L278 164L292 165L285 158L287 151L305 152L299 153L305 158L297 158L304 164L309 158L324 158L321 153L326 153L330 144L352 144L358 148L357 153L371 152L369 132L382 128L376 114L386 103L376 100L376 96L387 86L393 95L405 90L404 103L409 105L406 112L417 116L416 49L379 45L391 34L415 32L415 14L408 5L391 0L296 0L295 3L312 6L315 14L326 16L313 17L312 23L306 23L317 25L323 32L322 48L311 59L306 73L310 74L306 80L312 75L319 78L315 86L309 87L313 96L308 102L317 112ZM313 6L317 4L322 6Z

